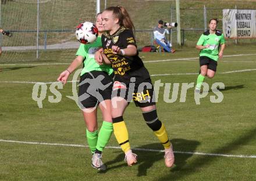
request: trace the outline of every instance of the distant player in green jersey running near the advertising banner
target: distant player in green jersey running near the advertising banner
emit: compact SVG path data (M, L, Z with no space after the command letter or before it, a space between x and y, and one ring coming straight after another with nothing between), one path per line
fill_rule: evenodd
M205 76L208 78L214 77L217 70L218 58L223 57L225 39L222 32L216 30L217 24L217 19L209 20L209 30L201 35L195 46L195 48L200 50L200 74L197 77L196 92L200 92Z

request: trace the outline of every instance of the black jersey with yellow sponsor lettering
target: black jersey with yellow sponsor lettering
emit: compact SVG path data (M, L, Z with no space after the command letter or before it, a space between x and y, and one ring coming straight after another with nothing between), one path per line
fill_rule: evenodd
M111 61L115 73L115 81L129 85L130 78L136 78L136 84L140 84L145 79L150 78L148 70L144 67L143 61L135 56L122 56L112 53L112 46L119 46L120 49L127 48L128 45L136 46L133 31L120 27L113 35L105 32L102 37L102 48L106 57Z

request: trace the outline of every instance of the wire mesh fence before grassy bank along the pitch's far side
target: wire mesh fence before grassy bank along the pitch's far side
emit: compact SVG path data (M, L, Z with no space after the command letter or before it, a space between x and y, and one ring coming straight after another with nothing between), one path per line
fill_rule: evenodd
M52 49L77 49L79 42L74 37L77 24L83 21L94 21L97 3L95 0L12 0L1 1L0 27L13 32L13 37L0 36L3 51L10 51L0 57L1 60L35 60L35 51L40 56ZM40 3L37 3L40 2ZM126 1L101 0L100 9L108 6L122 5L129 12L134 26L139 48L153 44L153 30L158 20L176 21L175 1ZM85 8L86 7L86 8ZM230 9L236 6L230 6ZM211 18L222 19L222 9L180 8L181 41L183 46L195 46L198 38L208 28ZM222 30L222 21L218 24ZM38 47L37 45L38 36ZM169 40L173 46L177 44L176 28L171 29ZM233 44L231 40L229 43ZM239 40L239 42L256 42L255 39ZM24 56L24 52L29 52ZM69 55L68 50L62 52ZM73 56L73 52L72 52Z

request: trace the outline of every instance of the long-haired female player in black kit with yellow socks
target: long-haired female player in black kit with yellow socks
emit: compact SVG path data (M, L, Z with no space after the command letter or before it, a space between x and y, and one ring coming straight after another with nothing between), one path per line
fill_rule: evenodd
M154 88L150 74L138 57L133 35L133 23L122 6L112 6L102 13L102 24L106 31L102 37L102 52L95 54L99 63L112 64L115 73L112 92L113 131L122 150L125 152L127 165L136 164L137 155L132 153L123 114L131 99L140 107L146 124L154 131L165 148L165 164L174 163L172 145L165 125L158 120L157 109L153 100Z

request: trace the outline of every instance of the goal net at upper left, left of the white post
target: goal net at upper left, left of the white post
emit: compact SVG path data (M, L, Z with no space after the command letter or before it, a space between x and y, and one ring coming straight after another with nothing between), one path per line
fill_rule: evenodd
M0 35L1 63L37 57L51 61L47 58L51 52L58 54L58 60L67 56L73 59L79 47L74 36L76 26L94 21L96 14L94 0L1 0L0 6L0 27L13 34Z

